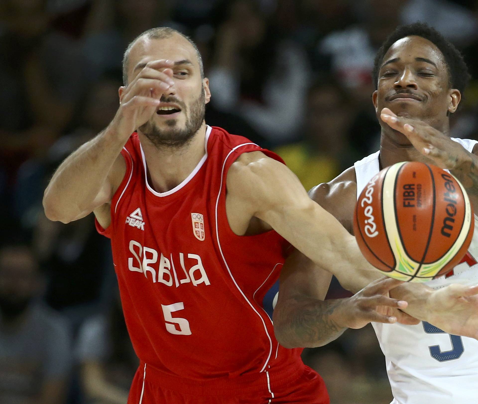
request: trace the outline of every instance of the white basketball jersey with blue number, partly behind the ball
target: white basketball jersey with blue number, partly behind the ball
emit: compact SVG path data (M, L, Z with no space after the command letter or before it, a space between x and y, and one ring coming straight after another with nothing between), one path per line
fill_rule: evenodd
M478 142L455 139L469 152ZM354 164L357 198L379 172L379 152ZM450 283L478 284L478 217L467 256L453 273L426 282L433 289ZM478 402L478 341L445 334L426 322L418 325L372 323L385 355L394 400L391 404Z

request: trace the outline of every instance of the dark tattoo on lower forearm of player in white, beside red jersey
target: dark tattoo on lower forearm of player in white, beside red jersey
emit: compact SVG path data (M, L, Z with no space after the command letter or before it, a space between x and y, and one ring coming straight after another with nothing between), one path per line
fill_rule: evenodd
M284 310L279 322L286 324L282 335L297 347L319 347L340 337L346 330L332 318L340 300L321 301L310 298L295 298L298 309ZM282 320L280 317L282 317Z

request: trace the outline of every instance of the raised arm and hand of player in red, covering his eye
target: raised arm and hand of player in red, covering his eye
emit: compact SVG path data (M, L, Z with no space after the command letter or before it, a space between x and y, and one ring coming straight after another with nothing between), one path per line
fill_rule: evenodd
M128 87L120 89L120 107L109 126L58 167L43 196L50 220L68 223L109 204L126 170L121 149L174 84L171 66L165 60L149 62ZM107 227L109 220L106 215L100 224Z

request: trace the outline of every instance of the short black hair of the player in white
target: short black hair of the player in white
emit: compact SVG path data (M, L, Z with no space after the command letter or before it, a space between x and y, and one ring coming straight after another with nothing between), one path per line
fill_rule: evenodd
M413 24L398 26L395 31L393 31L387 37L385 42L380 46L380 49L375 56L372 70L372 80L375 89L377 89L378 87L379 71L380 65L383 62L383 57L388 52L391 45L393 45L399 39L411 35L421 36L422 38L425 38L435 44L435 46L445 57L445 64L448 70L450 88L457 89L461 93L463 93L470 79L468 67L463 60L463 55L458 49L456 49L455 45L453 45L450 41L445 39L442 34L440 34L438 31L436 31L429 25L425 24L424 22L414 22Z

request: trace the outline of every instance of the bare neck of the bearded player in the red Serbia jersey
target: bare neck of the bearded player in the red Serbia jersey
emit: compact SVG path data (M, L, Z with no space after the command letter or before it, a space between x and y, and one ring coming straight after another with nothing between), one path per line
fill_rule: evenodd
M146 159L148 182L156 192L167 192L183 182L205 155L206 123L180 147L157 147L138 132Z

